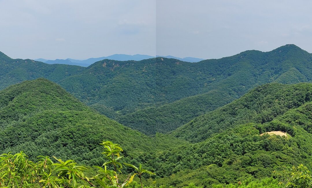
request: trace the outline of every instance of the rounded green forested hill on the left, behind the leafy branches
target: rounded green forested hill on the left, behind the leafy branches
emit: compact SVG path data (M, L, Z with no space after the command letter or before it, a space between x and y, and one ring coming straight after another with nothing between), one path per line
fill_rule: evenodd
M187 143L168 135L151 138L131 130L43 78L0 91L0 104L1 153L23 150L32 159L47 155L102 165L99 143L111 140L124 148L126 161L154 164L154 153L168 147L168 142Z

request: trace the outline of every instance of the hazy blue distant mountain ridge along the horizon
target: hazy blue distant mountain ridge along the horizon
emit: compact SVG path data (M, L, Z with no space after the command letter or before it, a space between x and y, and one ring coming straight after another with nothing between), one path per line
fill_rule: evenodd
M78 65L78 66L89 66L95 62L101 61L103 59L111 59L116 61L128 61L128 60L134 60L134 61L141 61L143 59L150 59L154 57L166 57L166 58L173 58L178 59L180 61L186 61L186 62L199 62L204 59L196 58L196 57L174 57L174 56L149 56L149 55L141 55L141 54L135 54L135 55L126 55L126 54L114 54L107 57L97 57L97 58L89 58L85 60L76 60L76 59L56 59L56 60L47 60L43 58L35 59L35 61L41 61L47 64L66 64L66 65Z

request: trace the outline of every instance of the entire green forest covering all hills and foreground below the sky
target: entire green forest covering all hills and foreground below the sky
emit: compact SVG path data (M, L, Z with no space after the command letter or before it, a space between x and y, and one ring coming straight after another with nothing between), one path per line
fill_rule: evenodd
M85 68L0 53L0 185L311 187L311 58L286 45Z

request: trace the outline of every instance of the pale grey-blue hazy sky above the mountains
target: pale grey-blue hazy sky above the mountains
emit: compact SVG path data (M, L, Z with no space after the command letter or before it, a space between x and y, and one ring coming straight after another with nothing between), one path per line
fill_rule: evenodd
M298 0L0 0L0 51L31 59L210 59L296 44L312 52L311 7Z

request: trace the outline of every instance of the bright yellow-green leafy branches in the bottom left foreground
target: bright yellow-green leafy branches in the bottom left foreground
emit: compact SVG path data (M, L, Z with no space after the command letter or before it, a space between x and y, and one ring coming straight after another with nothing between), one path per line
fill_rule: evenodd
M78 166L74 160L62 161L56 159L57 163L52 163L49 157L38 157L38 162L34 163L28 159L28 156L23 152L12 155L2 154L0 156L0 186L1 187L102 187L102 188L123 188L129 186L133 181L134 173L131 178L125 179L122 183L118 181L118 172L122 165L117 162L121 158L120 152L123 150L118 144L113 144L110 141L103 142L105 158L108 160L103 164L103 167L96 166L98 174L94 177L85 176L86 167ZM109 154L109 155L107 155ZM112 164L115 170L109 170L107 164ZM116 167L116 166L119 167ZM131 164L127 164L131 165ZM140 172L146 171L141 168ZM57 174L57 175L56 175ZM131 174L130 174L131 175ZM129 177L130 177L129 175ZM141 179L141 174L140 179ZM155 174L154 174L155 175ZM141 187L142 181L141 181Z

